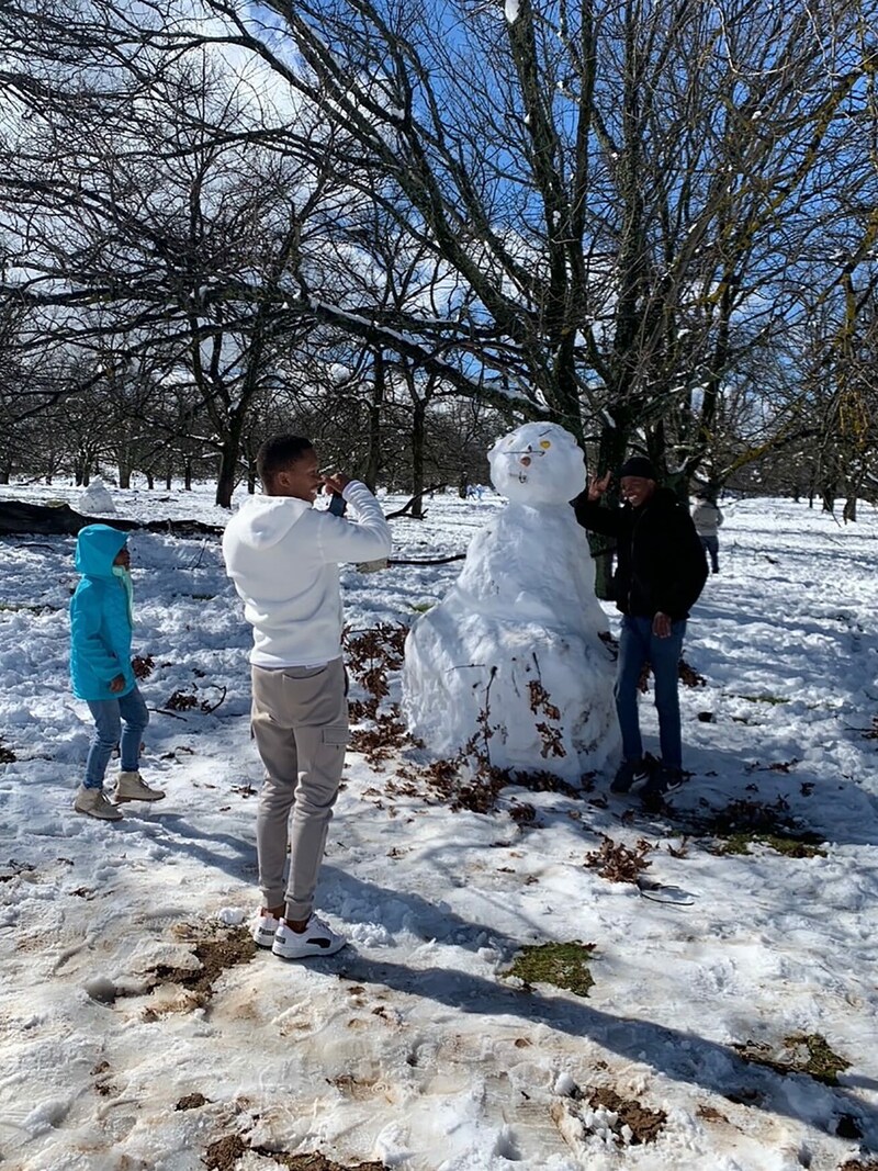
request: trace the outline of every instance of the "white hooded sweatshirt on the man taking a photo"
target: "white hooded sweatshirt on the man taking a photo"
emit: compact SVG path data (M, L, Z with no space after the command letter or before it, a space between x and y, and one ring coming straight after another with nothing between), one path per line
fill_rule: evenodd
M365 484L352 480L343 495L354 520L297 497L251 497L226 526L226 573L253 626L251 663L256 666L318 666L338 658L338 564L377 561L392 545Z

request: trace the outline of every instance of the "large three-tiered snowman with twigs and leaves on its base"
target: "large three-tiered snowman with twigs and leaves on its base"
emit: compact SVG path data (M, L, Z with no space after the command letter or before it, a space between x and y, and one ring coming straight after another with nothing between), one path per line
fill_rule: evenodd
M508 504L412 625L403 710L437 755L476 746L499 768L575 783L619 747L608 623L569 504L585 486L584 457L557 424L527 423L488 458Z

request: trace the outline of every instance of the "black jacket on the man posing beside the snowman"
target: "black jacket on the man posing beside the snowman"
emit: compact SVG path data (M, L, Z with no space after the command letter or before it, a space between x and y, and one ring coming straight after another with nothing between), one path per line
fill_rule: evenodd
M707 561L688 511L670 488L657 488L639 508L604 508L583 493L574 509L583 528L617 539L617 609L643 618L688 617L707 580Z

